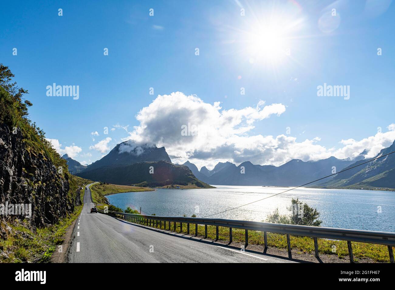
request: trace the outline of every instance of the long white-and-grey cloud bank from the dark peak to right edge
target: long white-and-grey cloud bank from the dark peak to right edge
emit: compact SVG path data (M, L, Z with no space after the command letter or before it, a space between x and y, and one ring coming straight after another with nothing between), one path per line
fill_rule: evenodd
M136 118L140 122L128 137L135 144L165 146L173 163L190 160L198 167L213 168L218 162L260 165L282 165L292 159L319 160L335 156L355 158L366 150L366 158L374 157L395 139L395 124L389 131L362 140L341 140L341 148L320 145L319 137L297 140L295 137L249 134L254 123L280 116L286 111L282 104L266 105L259 101L255 107L222 110L220 102L205 103L196 95L175 92L158 95Z

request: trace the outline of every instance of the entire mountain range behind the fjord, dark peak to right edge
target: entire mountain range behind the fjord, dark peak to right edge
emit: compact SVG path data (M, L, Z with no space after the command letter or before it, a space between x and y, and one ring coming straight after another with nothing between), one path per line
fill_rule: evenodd
M389 148L383 149L379 154L385 154L385 152L390 152L391 150L395 151L394 144ZM82 168L83 165L75 161L77 163L75 170L81 170L78 172L78 175L83 178L118 184L141 182L172 184L171 180L177 180L182 182L182 184L197 183L202 185L207 183L212 185L299 186L329 176L344 168L361 164L366 161L363 157L365 154L366 151L354 159L337 159L333 156L318 161L293 159L278 167L273 165L254 165L250 161L245 161L238 166L231 162L219 162L213 170L208 170L205 166L199 170L190 161L186 161L182 165L171 163L164 147L137 146L131 141L126 141L117 144L102 159L88 165L86 168ZM70 157L66 160L68 160L68 164L72 165L73 163L69 159ZM156 164L152 164L152 162L156 162ZM149 166L153 166L155 170L158 167L158 172L162 172L162 175L157 176L156 179L152 174L147 175L145 171L148 171L147 168ZM187 168L188 173L186 174L180 168ZM379 159L362 167L353 168L334 177L312 183L309 186L395 188L395 181L393 181L395 176L394 168L395 156L389 155L383 160ZM143 170L144 174L139 174L138 170ZM166 174L169 175L166 176ZM181 178L181 176L184 177ZM190 176L190 178L186 178L186 176Z

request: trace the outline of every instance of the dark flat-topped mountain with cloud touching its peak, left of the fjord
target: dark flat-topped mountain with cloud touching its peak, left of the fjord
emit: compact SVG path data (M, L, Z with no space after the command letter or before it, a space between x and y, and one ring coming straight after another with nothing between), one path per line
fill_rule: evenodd
M102 159L88 165L77 175L120 185L211 188L196 178L188 167L178 167L171 163L164 147L137 145L131 141L117 144Z

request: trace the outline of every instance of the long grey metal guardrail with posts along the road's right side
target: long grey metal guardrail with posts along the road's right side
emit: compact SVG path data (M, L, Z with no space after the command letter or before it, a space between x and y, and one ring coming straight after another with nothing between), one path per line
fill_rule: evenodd
M350 263L354 262L351 242L371 243L388 246L389 260L394 263L394 256L392 247L395 246L395 233L391 232L376 232L370 230L349 230L344 228L326 228L320 226L300 226L300 225L285 225L285 224L272 224L272 223L260 223L255 221L238 221L231 219L206 219L198 217L160 217L156 215L139 215L133 213L121 213L117 211L108 211L105 213L103 210L98 210L103 214L111 214L119 216L126 221L132 223L138 223L142 225L156 226L162 228L162 222L164 222L164 229L166 230L166 224L170 230L171 223L174 223L174 230L176 229L176 223L180 223L182 231L182 224L187 224L187 233L189 234L189 225L195 225L195 236L198 233L198 225L205 225L205 238L207 238L207 226L216 226L216 239L218 239L218 227L229 228L229 242L232 242L232 229L240 228L245 230L245 247L248 245L248 230L255 230L264 233L265 251L267 249L267 232L285 234L287 237L288 256L292 258L290 235L311 237L314 239L314 250L315 255L318 258L318 242L317 238L323 239L335 239L347 241L348 253L350 255ZM156 222L156 225L155 225Z

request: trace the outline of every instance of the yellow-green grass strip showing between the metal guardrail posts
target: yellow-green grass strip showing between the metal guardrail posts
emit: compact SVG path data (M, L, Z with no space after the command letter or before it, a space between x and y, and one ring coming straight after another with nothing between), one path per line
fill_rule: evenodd
M166 229L169 224L166 223ZM158 223L159 228L159 223ZM164 224L162 222L162 229ZM171 223L171 230L174 230L174 223ZM175 231L180 232L180 224L176 223ZM186 223L182 224L182 232L187 232ZM195 224L190 224L190 234L195 234ZM204 225L198 225L198 236L204 236L205 227ZM245 243L245 230L233 228L232 231L233 241L239 243ZM207 226L207 238L216 239L216 227ZM218 238L222 241L229 241L229 228L219 227ZM292 249L299 249L303 253L314 254L314 241L312 238L290 236ZM263 232L248 231L248 244L264 245ZM276 247L280 249L287 248L287 238L283 234L267 233L267 245L269 247ZM336 252L333 253L333 245L336 246ZM388 247L385 245L376 245L368 243L357 243L352 242L352 249L354 254L355 262L358 262L359 258L371 258L375 262L389 262ZM339 258L348 256L347 241L334 241L329 239L318 239L318 251L320 254L337 255Z

